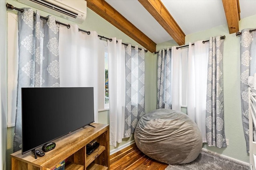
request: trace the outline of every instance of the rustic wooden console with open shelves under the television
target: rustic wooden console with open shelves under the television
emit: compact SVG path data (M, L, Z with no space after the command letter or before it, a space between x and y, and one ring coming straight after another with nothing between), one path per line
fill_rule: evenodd
M95 127L86 126L54 140L55 149L37 159L32 152L21 154L19 150L11 154L12 170L51 170L63 160L70 162L65 170L109 169L109 125L92 125ZM87 155L86 145L95 140L100 146Z

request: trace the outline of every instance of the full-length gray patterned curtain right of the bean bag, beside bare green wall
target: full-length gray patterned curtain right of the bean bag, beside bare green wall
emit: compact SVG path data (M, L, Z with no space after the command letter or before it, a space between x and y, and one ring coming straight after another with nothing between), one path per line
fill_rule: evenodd
M223 44L218 37L210 37L207 96L206 96L206 140L209 146L227 147L224 132L223 96Z

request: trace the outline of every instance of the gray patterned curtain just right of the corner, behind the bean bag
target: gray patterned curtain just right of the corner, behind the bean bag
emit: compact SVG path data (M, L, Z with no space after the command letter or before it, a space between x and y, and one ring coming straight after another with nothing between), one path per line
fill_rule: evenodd
M171 51L158 52L157 69L157 109L172 109Z

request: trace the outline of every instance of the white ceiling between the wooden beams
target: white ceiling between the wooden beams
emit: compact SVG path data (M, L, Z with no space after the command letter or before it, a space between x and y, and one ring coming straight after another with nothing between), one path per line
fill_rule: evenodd
M222 0L161 0L185 35L227 23ZM137 0L106 0L156 44L172 37ZM256 0L239 0L240 17L256 15Z

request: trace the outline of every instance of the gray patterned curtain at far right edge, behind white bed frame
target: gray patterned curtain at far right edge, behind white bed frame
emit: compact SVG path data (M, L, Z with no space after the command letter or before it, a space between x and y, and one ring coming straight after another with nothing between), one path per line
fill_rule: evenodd
M248 77L256 72L256 31L243 29L240 36L240 90L242 104L242 122L244 127L244 137L246 139L246 149L249 153L249 98L248 98Z

